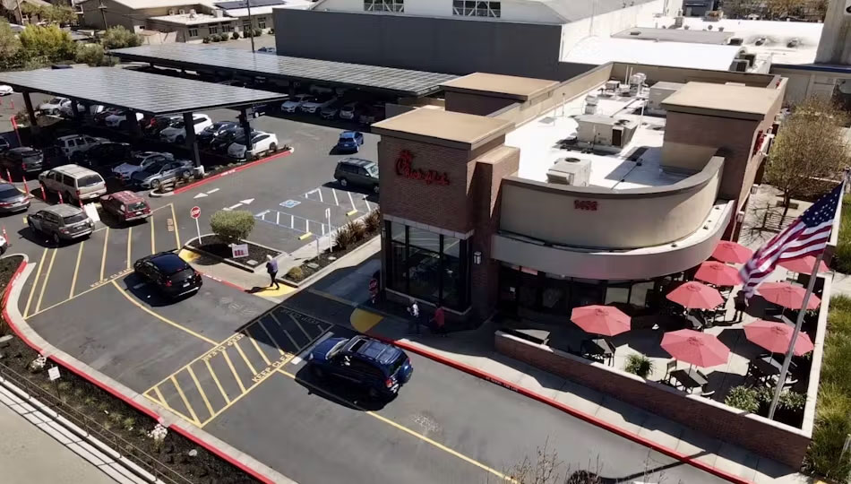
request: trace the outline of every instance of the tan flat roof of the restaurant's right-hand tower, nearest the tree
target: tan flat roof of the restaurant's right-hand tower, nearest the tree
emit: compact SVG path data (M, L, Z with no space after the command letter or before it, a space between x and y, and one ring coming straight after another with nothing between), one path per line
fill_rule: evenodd
M688 82L662 101L662 107L683 113L762 119L777 103L779 96L777 89Z

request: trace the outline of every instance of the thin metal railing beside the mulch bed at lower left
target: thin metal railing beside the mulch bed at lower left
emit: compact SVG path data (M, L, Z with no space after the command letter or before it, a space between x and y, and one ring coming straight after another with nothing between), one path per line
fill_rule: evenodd
M3 363L0 363L0 377L9 380L13 385L30 395L30 398L38 400L48 409L56 411L64 419L69 420L75 426L82 429L86 436L94 436L99 441L107 445L112 445L113 450L118 454L126 457L142 468L142 470L149 472L162 482L167 484L193 484L193 481L187 480L184 476L170 469L168 464L160 462L156 457L128 442L124 437L118 436L115 432L105 428L97 420L74 409L70 404L63 402L57 395L48 392L35 382L30 381L26 376L22 376ZM68 390L68 392L71 391ZM101 391L98 390L98 393L101 393ZM108 398L115 397L109 395ZM148 417L145 416L145 418L147 419Z

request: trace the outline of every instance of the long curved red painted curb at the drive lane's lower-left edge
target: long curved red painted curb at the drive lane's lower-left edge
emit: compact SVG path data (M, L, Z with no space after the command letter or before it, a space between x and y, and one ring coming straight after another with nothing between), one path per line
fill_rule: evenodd
M12 328L12 331L19 338L21 338L21 341L24 341L25 343L27 343L27 345L30 346L30 348L32 348L33 350L39 351L39 353L43 353L44 350L40 349L39 346L33 344L32 341L28 340L25 336L23 336L23 334L21 334L21 331L17 328L17 326L15 326L15 324L13 324L12 320L9 318L8 312L6 311L6 303L9 300L9 293L11 292L11 289L12 289L13 285L15 284L15 282L18 281L18 277L21 275L21 272L23 272L23 270L24 270L24 268L26 268L26 266L27 266L26 262L23 262L23 263L21 263L21 265L18 266L18 269L14 272L12 279L9 280L9 284L6 286L6 289L4 290L3 299L2 299L2 301L3 301L3 317L4 317L6 324L9 324L9 327ZM100 389L102 389L105 392L107 392L107 393L113 395L114 397L120 399L122 402L127 403L128 405L130 405L131 407L133 407L137 411L141 411L145 415L149 416L151 419L154 419L158 422L161 421L159 414L157 414L154 411L151 411L150 409L144 407L143 405L141 405L137 402L134 402L133 399L126 397L123 393L118 392L115 388L112 388L109 385L106 385L106 384L99 382L96 378L88 375L87 373L83 372L82 370L80 370L76 367L73 367L72 365L69 365L63 359L56 358L56 356L51 356L50 359L53 359L54 361L56 361L56 363L67 368L72 373L76 374L77 376L80 376L81 378L89 381L92 385L97 385ZM231 457L230 455L228 455L224 451L219 450L218 447L211 445L211 444L208 444L208 443L204 442L202 439L200 439L196 436L193 436L192 434L186 432L183 428L180 428L180 426L172 425L172 426L169 426L168 428L170 430L175 431L177 434L184 436L185 438L193 441L195 444L201 445L204 449L211 452L212 454L218 455L220 459L222 459L226 462L229 462L231 465L233 465L236 468L238 468L239 470L245 472L246 474L253 477L254 479L259 480L259 481L263 482L264 484L274 484L273 480L262 475L258 471L254 471L253 469L250 469L249 467L245 466L245 464L243 464L242 462L236 461L236 459L234 459L233 457Z

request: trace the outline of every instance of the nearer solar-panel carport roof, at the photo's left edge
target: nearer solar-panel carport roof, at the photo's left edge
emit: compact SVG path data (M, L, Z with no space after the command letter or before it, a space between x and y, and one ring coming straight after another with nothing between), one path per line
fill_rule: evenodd
M115 67L4 72L0 73L0 83L9 84L15 91L43 92L150 115L247 106L287 98L279 92Z

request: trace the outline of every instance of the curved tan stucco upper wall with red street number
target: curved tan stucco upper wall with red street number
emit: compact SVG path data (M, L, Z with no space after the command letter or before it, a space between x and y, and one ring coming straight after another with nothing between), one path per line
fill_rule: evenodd
M724 164L720 158L713 160L704 172L680 182L686 187L649 194L613 194L512 177L503 181L500 229L564 246L628 249L666 244L699 229L712 209ZM698 177L703 181L692 184ZM575 201L596 202L597 210L577 209Z

